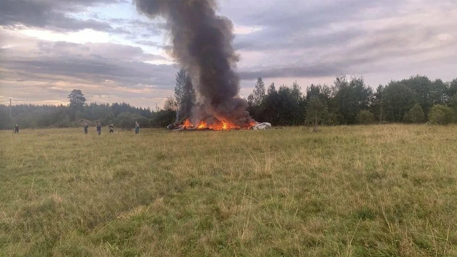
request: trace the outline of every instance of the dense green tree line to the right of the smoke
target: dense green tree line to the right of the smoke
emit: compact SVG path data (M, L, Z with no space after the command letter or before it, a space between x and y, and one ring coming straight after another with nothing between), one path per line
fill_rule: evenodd
M363 78L337 77L332 86L311 84L306 92L294 82L268 88L258 78L247 97L257 121L275 125L456 122L457 79L431 81L415 75L376 89Z

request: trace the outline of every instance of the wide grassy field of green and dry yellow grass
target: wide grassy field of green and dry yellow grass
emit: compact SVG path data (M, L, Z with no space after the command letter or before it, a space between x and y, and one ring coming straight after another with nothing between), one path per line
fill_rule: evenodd
M0 256L457 256L456 137L1 131Z

